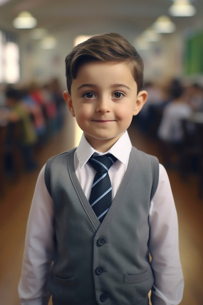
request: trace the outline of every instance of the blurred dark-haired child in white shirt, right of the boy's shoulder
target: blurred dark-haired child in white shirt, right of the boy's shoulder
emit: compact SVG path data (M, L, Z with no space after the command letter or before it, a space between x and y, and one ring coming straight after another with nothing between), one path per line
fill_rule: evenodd
M183 139L182 119L190 116L192 109L185 102L185 88L178 80L170 87L170 102L163 110L158 128L158 137L162 141L162 153L166 167L177 165L172 161L173 153L178 153ZM178 162L178 161L177 161Z

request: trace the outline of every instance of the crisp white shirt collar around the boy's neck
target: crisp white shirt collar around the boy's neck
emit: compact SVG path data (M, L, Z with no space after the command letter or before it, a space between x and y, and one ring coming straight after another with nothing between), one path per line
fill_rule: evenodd
M116 143L111 147L111 149L108 151L109 153L112 153L119 161L121 161L124 165L126 162L128 162L129 154L132 148L131 141L129 139L129 134L126 131L117 141ZM78 158L78 162L80 165L80 168L82 168L90 159L92 154L96 152L97 154L104 154L101 152L97 152L93 149L93 147L89 144L89 142L86 140L84 133L82 134L80 143L76 149L76 156ZM105 152L107 153L107 152Z

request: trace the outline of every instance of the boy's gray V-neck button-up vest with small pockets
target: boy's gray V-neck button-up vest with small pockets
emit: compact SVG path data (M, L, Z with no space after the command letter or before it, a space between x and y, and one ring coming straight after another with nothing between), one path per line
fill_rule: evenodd
M132 148L129 165L100 224L74 171L74 150L48 160L54 202L55 255L49 280L54 305L148 305L149 204L159 162Z

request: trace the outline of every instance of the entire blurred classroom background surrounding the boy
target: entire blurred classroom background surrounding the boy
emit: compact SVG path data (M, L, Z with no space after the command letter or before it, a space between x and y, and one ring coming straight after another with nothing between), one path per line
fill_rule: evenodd
M203 304L203 1L0 0L0 305L19 305L38 172L81 135L62 97L65 57L109 32L143 58L148 101L129 135L166 167L179 217L181 304Z

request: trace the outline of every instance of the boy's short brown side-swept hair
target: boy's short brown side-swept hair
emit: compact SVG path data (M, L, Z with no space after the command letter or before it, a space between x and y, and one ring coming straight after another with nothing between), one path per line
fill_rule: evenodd
M70 94L71 84L76 78L78 68L88 61L127 62L137 83L137 92L141 90L143 60L123 36L116 33L97 35L74 47L65 59L67 88Z

